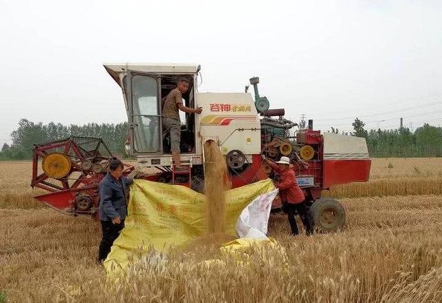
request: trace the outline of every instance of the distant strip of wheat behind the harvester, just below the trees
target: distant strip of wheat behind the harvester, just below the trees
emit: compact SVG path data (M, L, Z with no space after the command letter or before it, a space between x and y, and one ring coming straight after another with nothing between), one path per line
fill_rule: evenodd
M0 162L0 208L43 207L30 187L31 162ZM442 195L442 158L373 159L369 182L344 184L325 190L325 197L383 197Z

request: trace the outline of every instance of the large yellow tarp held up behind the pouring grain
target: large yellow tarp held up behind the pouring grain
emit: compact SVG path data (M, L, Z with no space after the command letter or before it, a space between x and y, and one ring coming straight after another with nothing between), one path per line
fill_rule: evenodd
M256 197L275 187L270 179L227 191L227 234L236 236L235 226L241 211ZM128 217L104 262L110 273L126 268L133 252L184 247L206 231L204 195L190 188L135 179L131 186Z

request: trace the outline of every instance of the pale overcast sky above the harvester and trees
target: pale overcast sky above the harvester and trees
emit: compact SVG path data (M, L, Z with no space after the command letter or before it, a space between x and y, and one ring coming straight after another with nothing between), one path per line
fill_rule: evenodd
M442 124L442 1L0 0L0 144L21 118L125 121L103 62L200 63L315 128Z

